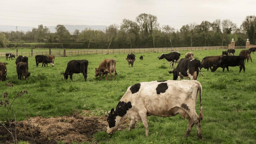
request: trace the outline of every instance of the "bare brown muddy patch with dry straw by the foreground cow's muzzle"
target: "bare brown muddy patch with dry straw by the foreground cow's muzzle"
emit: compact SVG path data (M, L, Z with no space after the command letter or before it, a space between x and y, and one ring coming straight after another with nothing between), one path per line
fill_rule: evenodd
M98 131L106 131L107 115L86 116L75 113L70 116L56 118L34 117L25 121L16 121L17 140L35 144L57 144L72 142L91 142L92 135ZM123 119L119 130L128 128L130 120ZM9 123L5 123L7 128ZM15 128L15 122L12 122ZM15 129L13 129L15 132ZM0 127L0 143L12 142L8 131Z

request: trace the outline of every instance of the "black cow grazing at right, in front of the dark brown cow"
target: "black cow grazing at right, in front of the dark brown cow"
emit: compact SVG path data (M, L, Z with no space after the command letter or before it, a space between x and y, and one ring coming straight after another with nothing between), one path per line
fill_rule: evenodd
M241 72L242 68L245 72L244 62L245 62L245 56L227 55L220 58L220 60L215 65L213 65L212 72L215 72L219 67L223 68L222 72L224 72L225 68L227 68L227 71L229 71L229 66L232 66L232 67L239 66L240 68L239 72Z

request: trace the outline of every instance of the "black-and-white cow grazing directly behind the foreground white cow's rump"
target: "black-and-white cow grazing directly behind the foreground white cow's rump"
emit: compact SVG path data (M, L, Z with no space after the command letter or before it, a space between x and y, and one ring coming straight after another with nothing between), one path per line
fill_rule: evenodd
M177 68L169 71L169 73L173 74L173 80L183 79L184 77L188 80L197 80L199 74L199 68L201 66L201 62L198 59L190 59L190 58L182 58L180 59Z

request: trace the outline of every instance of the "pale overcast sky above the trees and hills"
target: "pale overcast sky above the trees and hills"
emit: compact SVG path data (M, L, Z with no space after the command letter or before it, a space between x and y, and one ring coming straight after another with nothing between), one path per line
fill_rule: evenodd
M0 25L121 25L142 13L160 26L180 29L189 23L230 19L240 27L256 16L256 0L0 0Z

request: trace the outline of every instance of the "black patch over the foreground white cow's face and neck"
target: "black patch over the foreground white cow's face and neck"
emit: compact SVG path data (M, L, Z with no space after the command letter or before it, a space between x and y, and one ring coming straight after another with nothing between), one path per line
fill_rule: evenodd
M110 113L108 114L108 127L114 127L116 125L116 117L123 117L130 108L132 108L132 104L130 101L128 103L124 101L119 101L119 103L116 106L116 111L114 110L114 108L112 108Z

